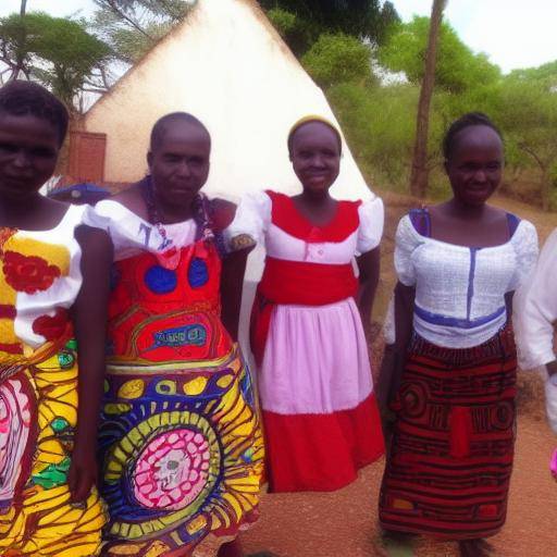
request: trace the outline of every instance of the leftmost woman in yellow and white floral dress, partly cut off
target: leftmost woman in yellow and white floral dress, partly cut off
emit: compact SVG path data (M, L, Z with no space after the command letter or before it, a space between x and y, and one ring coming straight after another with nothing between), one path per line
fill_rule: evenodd
M39 85L0 89L3 557L98 555L106 522L94 484L111 245L82 226L87 209L38 193L66 127Z

